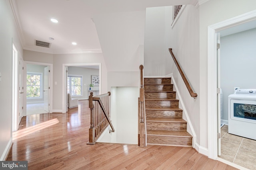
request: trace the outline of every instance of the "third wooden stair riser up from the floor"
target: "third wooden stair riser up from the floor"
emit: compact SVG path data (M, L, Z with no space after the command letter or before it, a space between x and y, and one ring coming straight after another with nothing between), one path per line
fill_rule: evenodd
M146 117L182 118L182 111L146 110Z

